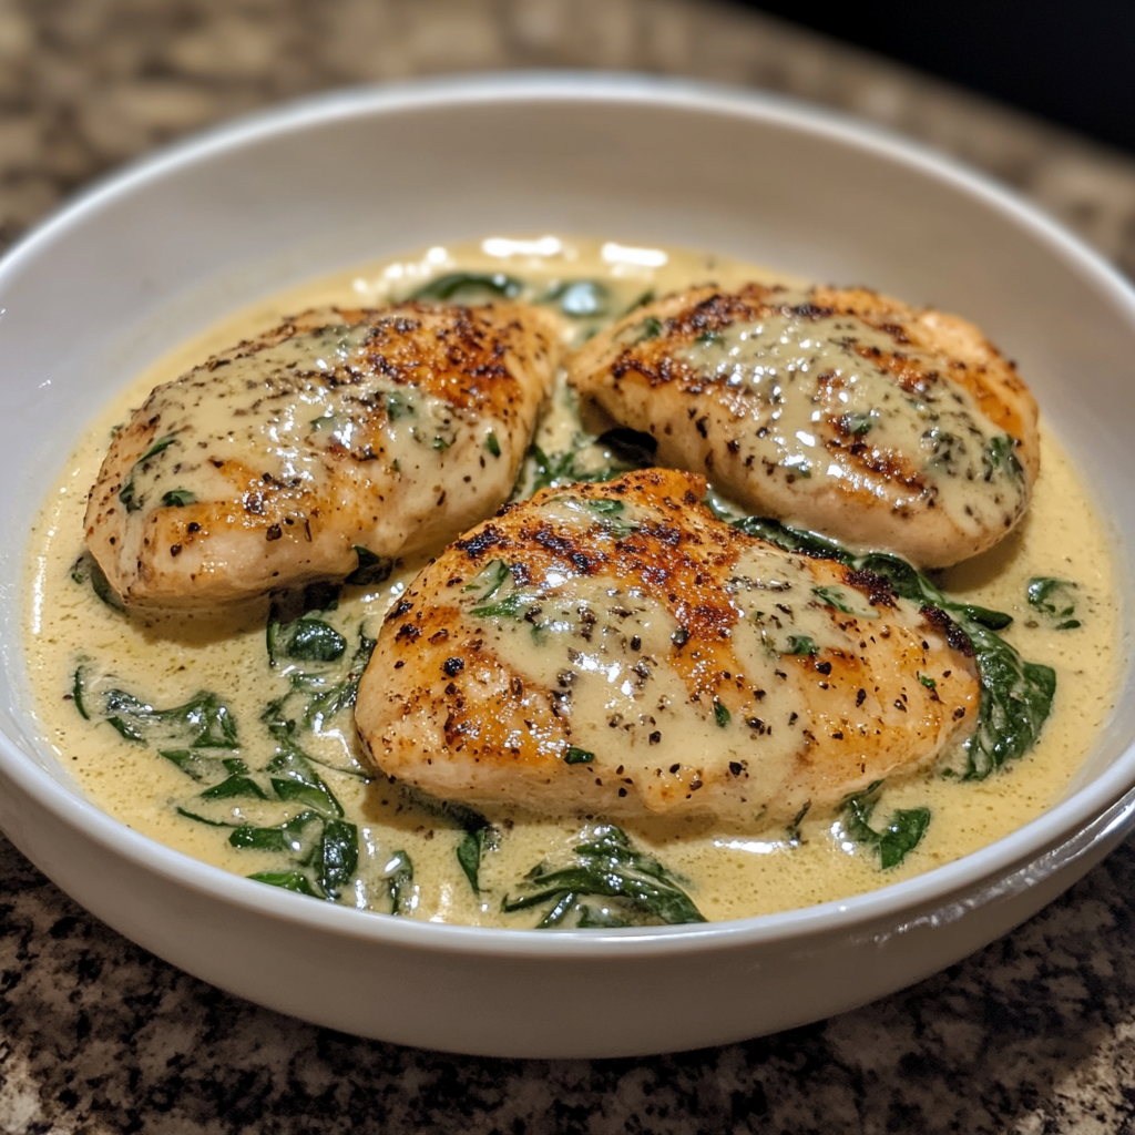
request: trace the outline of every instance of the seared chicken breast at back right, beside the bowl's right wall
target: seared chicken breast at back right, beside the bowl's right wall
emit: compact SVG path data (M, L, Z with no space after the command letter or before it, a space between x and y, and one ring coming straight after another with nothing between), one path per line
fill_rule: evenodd
M1024 515L1036 403L972 323L864 288L696 288L571 361L580 395L748 510L947 566Z

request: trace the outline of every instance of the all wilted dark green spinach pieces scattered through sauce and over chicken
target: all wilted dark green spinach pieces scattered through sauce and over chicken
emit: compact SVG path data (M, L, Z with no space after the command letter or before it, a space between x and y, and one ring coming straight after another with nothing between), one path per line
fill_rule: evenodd
M503 272L451 272L428 281L413 299L479 302L522 296L533 297L536 293L524 281ZM653 300L654 293L647 292L628 311ZM555 304L574 320L599 320L609 313L614 300L611 291L599 281L568 280L547 289L538 302ZM642 320L632 334L637 335L636 342L641 342L661 334L662 329L662 323L651 317ZM394 396L388 411L392 420L415 412L411 403L403 405ZM312 429L325 424L328 422L317 419ZM849 432L861 436L873 428L874 419L872 415L848 415L846 424ZM175 440L175 435L158 439L135 463L119 494L127 511L142 506L136 498L134 472ZM449 439L442 436L434 440L437 448L448 444ZM649 436L621 429L598 437L580 431L568 449L550 454L533 444L513 498L530 496L543 488L609 480L629 469L651 464L654 447ZM485 448L494 457L501 455L495 434L486 437ZM1008 437L993 438L986 445L983 464L986 479L997 474L1023 476ZM808 470L798 472L806 476ZM193 494L175 488L165 494L162 503L183 507L193 499ZM707 503L712 506L712 498ZM620 523L614 515L619 511L614 503L592 502L592 505L597 513L604 508L612 513L602 516L608 524ZM953 641L960 636L960 640L973 649L981 680L981 704L977 726L961 746L962 765L948 773L962 780L983 779L1034 743L1051 711L1056 675L1048 666L1023 661L995 633L1009 625L1009 615L950 599L926 575L897 556L885 553L855 555L818 533L791 529L767 519L735 515L723 519L785 550L825 556L856 570L874 572L885 578L897 595L949 615ZM363 546L358 546L355 553L358 566L346 583L371 587L390 575L394 568L390 560ZM479 592L479 606L473 614L518 617L537 602L538 597L511 586L511 574L507 565L494 561L466 585L466 590ZM77 583L90 582L102 602L121 609L118 596L89 553L76 562L72 577ZM1074 583L1037 578L1029 581L1027 598L1039 615L1053 622L1057 629L1071 629L1079 625L1073 617L1074 590ZM815 592L836 609L855 613L847 605L851 600L842 592L836 594L836 589L817 588ZM288 688L261 715L260 725L267 734L269 755L257 767L246 762L243 750L238 750L235 718L215 693L203 691L180 706L158 709L125 690L107 688L104 682L94 689L89 664L81 663L74 674L72 697L83 717L106 721L125 739L150 746L193 782L195 793L177 805L183 816L229 830L228 842L234 848L279 857L278 867L257 872L251 878L316 898L342 900L358 872L359 833L344 817L342 804L317 772L316 765L321 762L305 750L304 739L329 728L339 714L353 708L359 680L375 640L360 629L355 649L347 657L347 638L321 617L334 609L334 598L327 595L321 598L319 602L318 594L314 598L305 596L299 612L284 611L278 605L272 608L266 629L268 662L287 678ZM686 633L680 630L675 634L679 646L684 642ZM812 640L802 636L793 640L791 648L800 654L815 650ZM721 728L729 726L730 712L724 705L715 703L714 716ZM218 750L228 755L215 756ZM592 759L594 755L583 749L569 750L570 764L587 764ZM355 776L368 775L361 767L327 767ZM927 808L898 809L884 829L876 830L872 818L881 790L878 781L849 797L842 806L841 825L852 841L873 848L881 868L889 869L917 847L931 815ZM239 822L233 819L234 801L241 805ZM481 894L481 865L486 854L499 846L499 830L479 813L461 805L418 800L411 806L427 814L440 809L461 830L455 855L473 893ZM790 825L788 847L802 842L800 824L807 812L806 805ZM249 817L254 817L255 822ZM543 909L539 927L703 922L704 917L681 883L657 859L636 849L619 827L597 824L575 843L568 863L533 867L518 884L515 894L505 896L502 909L506 913ZM389 852L380 884L392 914L413 911L417 905L414 868L405 850Z

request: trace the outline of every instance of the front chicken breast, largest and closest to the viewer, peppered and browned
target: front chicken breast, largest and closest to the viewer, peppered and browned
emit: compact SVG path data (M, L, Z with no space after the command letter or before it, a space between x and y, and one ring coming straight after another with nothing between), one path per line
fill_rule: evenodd
M473 806L756 830L968 733L976 673L944 615L743 535L705 487L651 469L546 489L457 540L362 678L375 765Z

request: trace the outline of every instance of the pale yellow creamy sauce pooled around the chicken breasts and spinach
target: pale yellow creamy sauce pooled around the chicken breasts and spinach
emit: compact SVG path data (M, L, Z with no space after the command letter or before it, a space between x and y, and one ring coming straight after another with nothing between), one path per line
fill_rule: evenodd
M575 309L563 320L569 343L580 342L603 321L586 287L575 293L565 289L572 280L602 281L612 316L646 293L663 295L707 281L723 287L749 280L798 283L750 264L669 249L553 237L491 238L479 245L430 249L275 296L177 346L138 376L92 423L48 495L31 535L25 580L25 650L42 735L83 790L123 823L236 874L281 866L278 852L233 847L230 829L184 815L200 810L192 801L201 785L175 760L124 739L106 721L84 720L75 703L78 667L90 690L112 686L157 707L180 705L202 690L216 691L237 722L242 751L261 756L271 754L275 743L262 721L264 708L288 695L292 673L287 666L268 665L267 603L224 617L203 613L126 617L99 599L89 583L73 578L73 565L83 552L86 495L111 429L157 384L275 326L286 314L322 304L378 305L457 269L506 272L528 281L537 295L558 294L564 308ZM537 444L548 455L580 448L583 461L589 454L563 386L541 421ZM603 457L598 446L592 445L590 453ZM883 886L983 847L1060 799L1112 705L1118 611L1105 529L1076 470L1043 423L1041 469L1032 507L1017 529L990 553L943 577L952 595L1011 614L1014 623L1002 636L1026 659L1056 669L1053 713L1040 741L984 781L928 775L885 785L876 826L893 809L925 806L932 814L922 842L886 871L881 869L878 856L848 839L831 815L807 817L797 839L783 830L758 836L723 834L704 821L622 823L637 846L684 877L690 898L707 918L766 914ZM385 612L419 566L402 564L378 587L346 588L337 608L321 616L350 644L348 658L361 634L375 637ZM1027 588L1035 578L1075 585L1060 592L1059 604L1049 604L1059 611L1074 605L1074 617L1029 605ZM340 675L329 675L328 681L335 676ZM412 884L403 893L404 914L437 922L532 926L543 910L504 914L502 899L535 865L564 855L585 826L575 818L491 816L501 839L484 856L481 891L474 894L456 857L464 838L461 827L409 801L384 779L368 777L350 712L329 717L322 731L305 738L304 748L319 763L319 775L340 801L345 818L358 826L359 867L340 901L360 908L390 909L388 878L403 854L413 864ZM212 759L230 756L202 753ZM210 808L207 818L215 822L262 822L255 801L215 800Z

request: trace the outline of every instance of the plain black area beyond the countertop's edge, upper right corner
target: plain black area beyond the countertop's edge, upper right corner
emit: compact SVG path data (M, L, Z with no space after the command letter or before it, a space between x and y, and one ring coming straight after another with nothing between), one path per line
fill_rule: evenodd
M1135 0L866 0L823 9L748 0L747 7L1135 153Z

